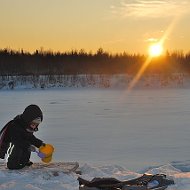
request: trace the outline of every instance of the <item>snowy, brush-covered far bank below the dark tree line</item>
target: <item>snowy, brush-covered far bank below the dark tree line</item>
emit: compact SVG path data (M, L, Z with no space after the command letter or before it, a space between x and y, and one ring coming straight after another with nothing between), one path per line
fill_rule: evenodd
M0 76L0 90L57 88L127 89L134 77L128 74ZM190 88L190 75L183 73L143 75L134 88Z

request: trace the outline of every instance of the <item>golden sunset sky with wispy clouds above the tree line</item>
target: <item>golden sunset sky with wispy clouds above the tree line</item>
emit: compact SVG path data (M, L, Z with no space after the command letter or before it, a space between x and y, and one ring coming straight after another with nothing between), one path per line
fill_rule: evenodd
M190 0L0 0L0 48L189 52Z

